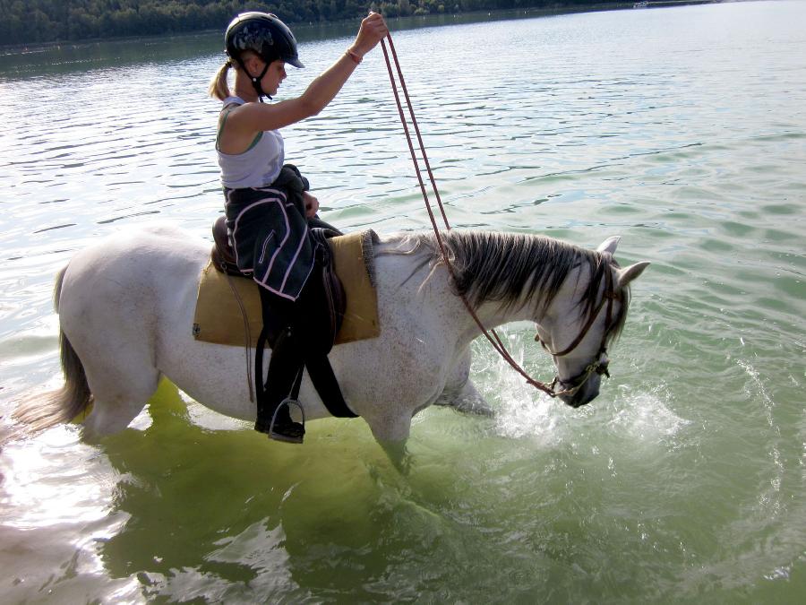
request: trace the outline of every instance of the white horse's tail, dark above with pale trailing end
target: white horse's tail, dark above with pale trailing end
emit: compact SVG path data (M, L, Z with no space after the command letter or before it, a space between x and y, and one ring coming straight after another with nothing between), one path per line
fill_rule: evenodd
M59 297L62 292L62 282L64 281L66 269L67 267L64 267L56 275L56 287L54 288L53 296L56 312L59 310ZM61 328L59 328L59 349L62 358L64 386L49 393L29 395L20 402L13 412L13 417L28 425L30 431L34 433L79 417L87 411L92 402L92 393L90 393L90 385L87 384L84 366Z

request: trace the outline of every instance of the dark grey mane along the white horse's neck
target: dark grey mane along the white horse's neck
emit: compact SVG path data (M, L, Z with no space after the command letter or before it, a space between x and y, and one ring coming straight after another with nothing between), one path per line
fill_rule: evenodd
M552 304L569 272L587 264L591 279L577 301L580 315L587 321L601 300L599 291L605 273L619 267L613 255L544 236L455 229L444 231L441 236L456 278L451 280L451 290L467 298L474 308L485 301L513 307L533 300L539 292L536 304L545 309ZM444 264L433 233L407 234L397 249L405 254L424 255L418 268L427 264L433 272ZM622 304L611 320L607 341L622 332L630 306L630 287L613 284L613 288L621 296Z

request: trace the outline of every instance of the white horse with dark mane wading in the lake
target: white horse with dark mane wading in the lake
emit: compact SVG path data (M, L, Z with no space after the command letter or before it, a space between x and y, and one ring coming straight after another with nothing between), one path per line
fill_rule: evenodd
M433 234L382 238L375 246L381 335L330 352L347 405L393 459L412 417L429 405L484 410L468 377L469 345L481 330L459 296L487 328L535 322L544 347L558 353L560 397L577 407L598 394L630 281L648 265L619 268L619 238L596 251L493 232L450 231L444 240L456 281ZM127 427L164 375L210 409L253 421L244 350L193 338L209 256L208 242L169 227L116 235L75 255L56 280L65 384L22 403L15 416L42 429L74 419L91 402L83 436L108 435ZM329 416L307 376L300 401L306 419Z

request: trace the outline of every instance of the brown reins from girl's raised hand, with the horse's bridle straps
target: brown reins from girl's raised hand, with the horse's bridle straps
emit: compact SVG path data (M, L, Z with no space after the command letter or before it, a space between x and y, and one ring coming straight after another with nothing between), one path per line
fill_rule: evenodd
M390 49L389 51L386 48L386 42L387 41L389 42L389 49ZM390 80L390 84L391 84L391 89L392 89L392 92L395 95L395 102L397 103L397 106L398 106L398 113L399 113L399 116L400 116L400 123L403 125L403 131L406 134L406 140L407 140L407 143L408 143L408 151L411 153L411 160L414 163L414 168L415 168L415 173L416 173L416 176L417 176L417 181L420 184L420 191L423 194L423 199L424 199L424 202L425 202L425 209L428 211L428 218L431 220L431 226L433 227L433 233L434 233L434 235L436 237L437 245L440 247L440 254L442 255L442 261L448 267L448 272L450 273L451 279L454 281L454 283L456 283L457 282L456 273L453 270L453 265L450 264L450 258L448 257L447 250L445 249L445 244L442 241L442 236L440 235L440 229L439 229L439 226L437 225L436 218L434 217L433 210L431 208L431 202L428 200L428 193L425 190L425 184L423 182L423 175L422 175L421 170L420 170L420 165L417 162L414 143L412 143L411 134L408 131L408 125L407 125L407 121L406 121L406 116L403 113L403 107L402 107L402 105L400 103L400 96L399 96L399 93L398 93L398 86L397 86L397 83L395 82L394 74L392 73L392 65L391 65L391 62L390 62L390 52L391 52L392 60L394 61L394 64L395 64L395 70L398 73L398 78L399 78L399 81L400 81L400 88L403 90L403 95L406 98L408 114L409 114L409 116L411 116L411 123L412 123L412 125L414 126L414 129L415 129L415 134L416 134L416 137L417 137L417 143L419 144L420 152L423 155L425 169L428 172L428 178L431 181L431 186L433 187L433 194L436 197L437 204L439 205L440 212L442 213L442 221L445 223L445 229L450 230L450 224L448 222L448 216L445 214L445 208L442 205L442 199L440 198L440 192L439 192L439 189L436 186L436 181L435 181L435 179L433 177L433 172L431 170L431 164L428 162L428 156L425 153L425 145L423 143L423 137L420 134L420 127L417 125L417 119L416 119L415 114L414 114L414 108L412 107L411 99L409 99L409 97L408 97L408 90L407 90L407 87L406 87L406 81L403 78L403 72L400 69L400 62L398 60L398 54L395 51L395 45L392 42L390 33L387 34L385 40L384 39L381 40L381 47L383 48L383 57L384 57L384 59L386 59L386 68L387 68L387 71L389 72L389 80ZM596 354L596 359L594 359L593 362L588 364L588 366L579 374L579 376L574 376L569 381L561 380L559 375L554 376L554 379L553 379L551 385L546 385L545 383L540 382L539 380L536 380L532 376L529 376L527 371L525 369L523 369L523 367L520 367L519 363L515 359L512 358L512 356L510 355L510 352L504 346L503 341L501 340L501 337L498 335L498 333L496 333L495 330L492 329L492 328L490 330L487 330L487 328L484 327L484 324L482 324L481 319L479 319L478 315L476 315L476 311L473 309L473 307L470 306L470 303L467 302L467 298L465 296L461 296L462 302L464 303L465 307L467 308L467 312L470 314L471 317L473 317L473 320L476 322L476 325L478 325L478 327L481 329L482 333L484 334L484 337L488 341L490 341L490 343L493 345L493 349L496 350L498 352L498 354L501 355L502 358L508 364L510 364L510 367L512 367L516 372L518 372L520 374L520 376L523 376L524 378L526 378L527 384L534 386L536 389L539 389L540 391L543 391L544 393L546 393L547 395L549 395L551 397L557 397L559 395L572 395L573 393L576 393L577 391L579 391L579 389L582 387L582 385L584 385L587 382L587 378L589 376L591 376L591 374L593 374L594 372L596 372L597 374L604 374L606 376L610 376L607 373L607 361L605 360L604 362L600 362L599 359L601 359L602 354L605 352L604 341L605 341L605 336L607 334L607 327L610 325L610 321L611 321L611 312L612 312L612 308L613 308L613 298L616 298L615 295L614 295L614 292L613 292L613 277L610 274L610 272L607 272L606 289L604 291L602 301L599 303L598 307L596 307L596 311L590 316L590 319L588 319L587 324L585 325L585 327L582 329L582 331L579 333L577 338L570 344L570 346L568 348L566 348L565 350L562 350L560 353L556 353L556 354L552 353L552 355L554 357L562 357L563 355L567 355L568 353L570 353L570 351L576 349L576 347L579 345L579 342L581 342L582 339L585 338L585 335L587 334L588 330L590 330L591 326L593 325L594 320L596 319L596 316L599 314L599 311L601 311L601 309L602 309L602 307L604 305L604 301L608 300L608 305L607 305L607 324L605 325L604 335L602 336L602 344L599 347L599 352ZM539 338L536 337L535 340L539 341ZM541 344L543 344L543 343L541 342ZM544 346L544 349L546 349L545 345L543 345L543 346ZM548 350L548 349L546 349L546 350ZM549 353L551 353L551 351L549 351ZM557 385L557 384L560 384L561 386L562 385L570 385L570 388L567 388L567 389L563 388L562 391L555 391L554 386Z

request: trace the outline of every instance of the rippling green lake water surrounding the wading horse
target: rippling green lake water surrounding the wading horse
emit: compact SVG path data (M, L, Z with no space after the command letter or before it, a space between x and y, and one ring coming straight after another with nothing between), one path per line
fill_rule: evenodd
M0 453L0 601L802 602L806 4L393 25L452 224L652 261L579 411L482 341L494 419L271 443L166 387L99 446ZM410 24L410 23L409 23ZM302 30L296 95L346 30ZM221 211L218 35L0 56L0 415L59 385L53 278L96 238ZM380 49L287 157L345 229L426 229ZM526 325L503 331L537 376ZM405 371L405 368L400 368Z

